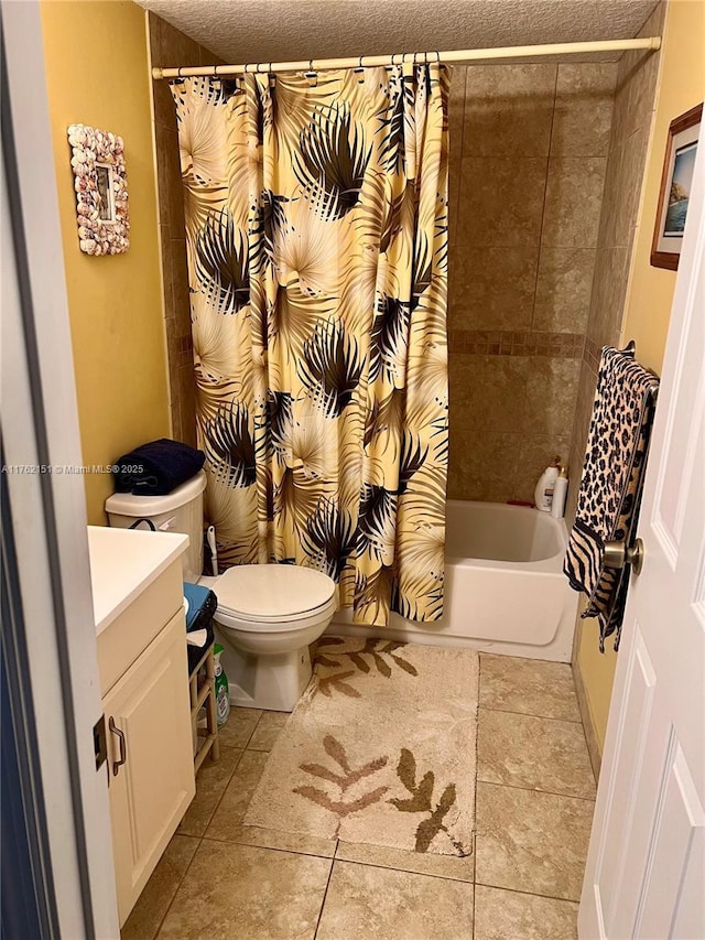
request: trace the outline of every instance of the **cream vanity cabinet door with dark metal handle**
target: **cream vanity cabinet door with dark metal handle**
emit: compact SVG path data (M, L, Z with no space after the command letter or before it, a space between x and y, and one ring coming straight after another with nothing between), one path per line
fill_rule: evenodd
M183 612L102 700L120 926L194 798ZM123 738L121 755L120 735ZM117 766L120 757L124 764ZM117 775L113 775L113 768Z

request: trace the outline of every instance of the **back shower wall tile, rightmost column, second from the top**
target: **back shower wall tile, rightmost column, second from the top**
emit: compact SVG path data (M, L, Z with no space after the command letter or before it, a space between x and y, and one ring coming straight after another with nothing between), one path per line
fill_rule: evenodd
M606 168L605 156L551 159L542 245L597 247Z

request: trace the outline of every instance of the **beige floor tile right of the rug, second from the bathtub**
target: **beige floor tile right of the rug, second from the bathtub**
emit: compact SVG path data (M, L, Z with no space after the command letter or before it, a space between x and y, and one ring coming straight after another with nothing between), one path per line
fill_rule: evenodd
M477 779L595 799L583 726L480 709Z

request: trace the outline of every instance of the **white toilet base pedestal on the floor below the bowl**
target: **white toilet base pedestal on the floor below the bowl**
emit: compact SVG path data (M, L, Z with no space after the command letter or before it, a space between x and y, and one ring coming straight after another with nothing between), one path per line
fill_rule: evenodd
M224 644L220 659L228 677L230 704L238 707L291 712L312 676L307 646L254 656Z

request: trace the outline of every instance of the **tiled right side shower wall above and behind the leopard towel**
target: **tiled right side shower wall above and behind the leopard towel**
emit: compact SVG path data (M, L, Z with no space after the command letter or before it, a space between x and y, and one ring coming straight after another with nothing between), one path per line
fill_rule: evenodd
M665 4L660 3L639 35L661 35L664 13ZM597 385L600 348L620 342L658 69L658 53L637 51L625 53L617 73L605 198L597 238L597 263L571 446L573 486L568 488L566 504L568 519L575 515L577 483Z

